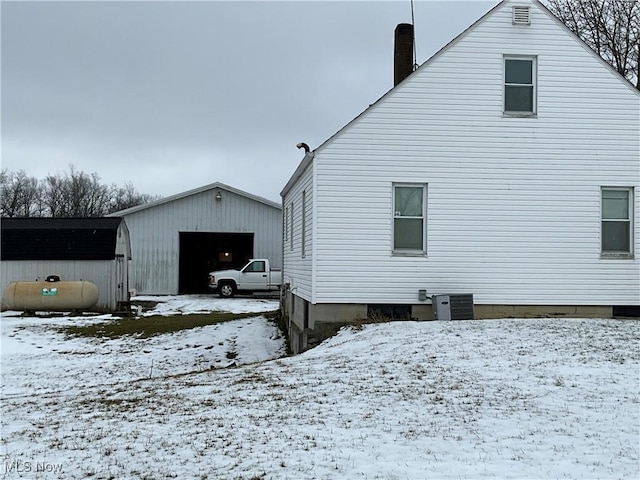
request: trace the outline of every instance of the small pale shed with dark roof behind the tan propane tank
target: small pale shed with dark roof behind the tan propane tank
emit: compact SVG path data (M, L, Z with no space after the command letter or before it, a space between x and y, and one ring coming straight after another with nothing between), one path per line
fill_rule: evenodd
M0 287L11 282L93 282L95 311L113 312L129 301L129 231L124 219L3 218ZM6 309L6 305L2 305Z

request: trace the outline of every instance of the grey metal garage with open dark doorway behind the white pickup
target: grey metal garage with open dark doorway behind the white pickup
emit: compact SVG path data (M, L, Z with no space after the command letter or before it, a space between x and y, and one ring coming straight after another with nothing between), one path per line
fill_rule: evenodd
M204 293L210 271L240 268L251 258L282 266L281 205L223 183L113 215L129 227L136 294Z

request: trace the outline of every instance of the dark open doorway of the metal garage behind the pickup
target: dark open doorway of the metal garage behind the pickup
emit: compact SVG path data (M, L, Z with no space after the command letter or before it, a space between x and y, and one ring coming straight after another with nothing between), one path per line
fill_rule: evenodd
M212 270L241 268L253 258L253 233L180 232L178 293L206 293Z

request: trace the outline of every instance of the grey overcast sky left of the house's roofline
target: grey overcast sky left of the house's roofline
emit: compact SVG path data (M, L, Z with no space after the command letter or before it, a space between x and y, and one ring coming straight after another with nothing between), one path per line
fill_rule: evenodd
M497 3L414 4L423 63ZM303 157L393 86L392 2L1 2L2 167L280 202Z

